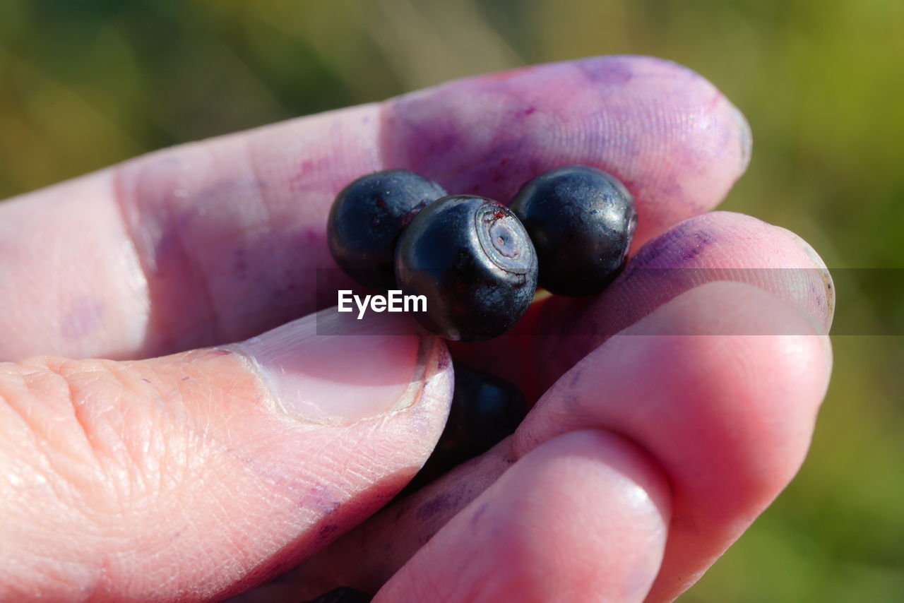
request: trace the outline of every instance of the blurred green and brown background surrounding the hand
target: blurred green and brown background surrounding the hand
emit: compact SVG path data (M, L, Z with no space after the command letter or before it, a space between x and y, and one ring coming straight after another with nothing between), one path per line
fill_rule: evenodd
M3 0L0 198L449 78L622 52L700 71L748 116L753 161L724 209L800 233L833 269L904 267L901 0ZM904 316L881 286L839 285L839 312ZM800 475L683 603L904 601L904 339L833 343Z

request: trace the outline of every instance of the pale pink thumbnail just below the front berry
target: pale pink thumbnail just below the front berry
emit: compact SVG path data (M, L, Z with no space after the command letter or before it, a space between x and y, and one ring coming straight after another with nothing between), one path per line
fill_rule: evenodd
M250 358L288 415L345 424L418 400L437 345L404 316L357 320L332 308L233 347Z

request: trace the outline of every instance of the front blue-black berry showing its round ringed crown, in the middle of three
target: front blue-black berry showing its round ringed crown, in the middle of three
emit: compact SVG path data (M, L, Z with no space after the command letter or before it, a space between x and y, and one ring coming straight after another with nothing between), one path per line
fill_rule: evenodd
M395 268L404 294L427 297L420 323L460 341L510 329L537 284L537 255L521 222L503 204L470 195L444 197L415 216Z

